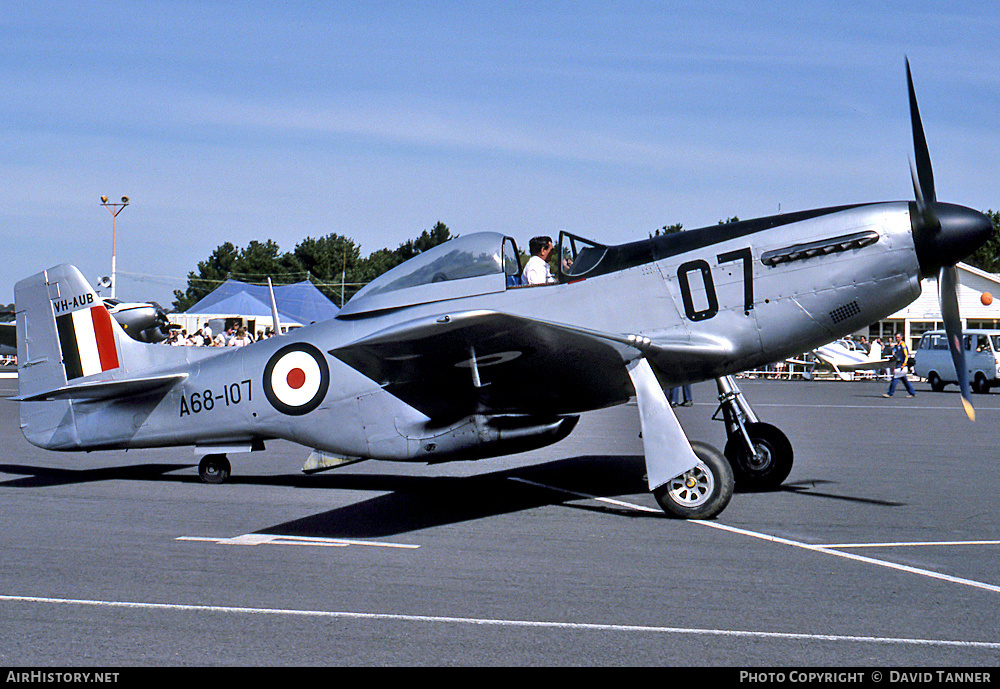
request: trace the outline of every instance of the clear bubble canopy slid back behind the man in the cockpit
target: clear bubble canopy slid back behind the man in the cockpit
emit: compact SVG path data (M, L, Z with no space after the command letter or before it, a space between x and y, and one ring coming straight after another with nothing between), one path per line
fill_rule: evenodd
M414 256L368 283L338 317L503 292L520 272L509 237L481 232L456 237Z

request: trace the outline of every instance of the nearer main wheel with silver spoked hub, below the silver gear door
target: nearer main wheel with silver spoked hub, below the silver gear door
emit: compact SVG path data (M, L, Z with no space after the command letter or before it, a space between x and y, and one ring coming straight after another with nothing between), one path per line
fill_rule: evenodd
M663 511L681 519L711 519L733 497L733 470L711 445L691 443L698 464L653 491Z

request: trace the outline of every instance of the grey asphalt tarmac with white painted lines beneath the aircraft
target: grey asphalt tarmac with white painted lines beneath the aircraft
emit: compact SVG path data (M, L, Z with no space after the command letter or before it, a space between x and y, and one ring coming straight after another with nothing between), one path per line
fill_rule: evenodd
M795 467L704 522L645 492L632 405L479 462L307 476L272 442L206 485L184 448L34 448L0 400L0 665L996 667L1000 394L972 423L926 384L740 383Z

